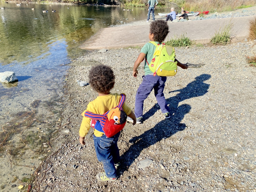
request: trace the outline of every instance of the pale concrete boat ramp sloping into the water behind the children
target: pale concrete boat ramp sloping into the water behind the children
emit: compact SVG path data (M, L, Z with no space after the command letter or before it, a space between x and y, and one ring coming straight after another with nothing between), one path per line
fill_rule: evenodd
M164 19L164 18L159 18ZM165 40L185 34L190 40L206 44L220 27L231 23L232 41L237 42L249 35L249 21L251 16L191 20L188 22L172 23L168 21L169 34ZM152 21L152 20L150 20ZM110 49L143 46L149 41L150 22L136 26L119 26L100 29L94 36L84 42L82 49Z

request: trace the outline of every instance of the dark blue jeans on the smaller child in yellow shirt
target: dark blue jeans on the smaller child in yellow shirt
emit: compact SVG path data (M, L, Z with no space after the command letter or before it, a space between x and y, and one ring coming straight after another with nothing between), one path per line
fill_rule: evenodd
M94 147L97 155L97 159L103 163L103 167L107 177L117 177L115 164L120 162L119 148L117 141L120 136L120 132L113 137L96 137L93 134Z

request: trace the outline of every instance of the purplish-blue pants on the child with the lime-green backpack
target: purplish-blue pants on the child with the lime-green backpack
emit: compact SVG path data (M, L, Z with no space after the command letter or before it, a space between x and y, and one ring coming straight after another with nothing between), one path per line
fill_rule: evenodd
M135 96L134 111L136 118L142 117L144 100L148 97L153 89L162 113L169 112L169 108L163 93L166 77L146 75L142 76L142 79L143 81L141 82Z

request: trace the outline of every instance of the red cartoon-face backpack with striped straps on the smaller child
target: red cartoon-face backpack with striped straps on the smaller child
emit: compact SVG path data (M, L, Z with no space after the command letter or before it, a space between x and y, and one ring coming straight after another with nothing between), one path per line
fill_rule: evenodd
M127 115L122 108L126 95L123 93L120 95L121 99L118 106L103 115L95 114L90 111L84 113L84 116L91 119L91 127L97 131L104 132L107 137L112 137L121 131L126 123Z

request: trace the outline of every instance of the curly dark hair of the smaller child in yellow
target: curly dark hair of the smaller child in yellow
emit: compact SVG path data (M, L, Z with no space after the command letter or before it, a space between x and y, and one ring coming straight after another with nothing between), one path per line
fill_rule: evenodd
M94 66L89 71L89 83L98 93L107 93L114 87L114 72L106 65Z

